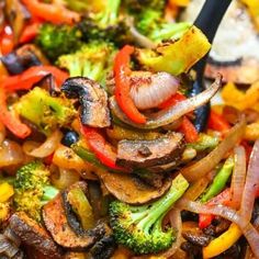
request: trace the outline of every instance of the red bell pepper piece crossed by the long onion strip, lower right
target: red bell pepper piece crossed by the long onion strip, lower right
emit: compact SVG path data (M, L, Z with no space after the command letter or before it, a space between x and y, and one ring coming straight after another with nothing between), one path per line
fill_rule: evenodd
M232 192L230 188L225 189L223 192L211 199L206 205L216 205L216 204L222 204L222 205L230 205L232 203ZM212 214L199 214L199 227L201 229L207 227L212 221L215 218L215 215Z

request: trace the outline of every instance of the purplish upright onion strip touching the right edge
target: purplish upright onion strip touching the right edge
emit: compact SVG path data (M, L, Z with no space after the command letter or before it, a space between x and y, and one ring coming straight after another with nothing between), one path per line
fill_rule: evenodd
M259 139L255 143L247 169L246 183L241 198L240 215L245 222L250 222L256 193L259 188ZM259 243L258 243L259 246Z

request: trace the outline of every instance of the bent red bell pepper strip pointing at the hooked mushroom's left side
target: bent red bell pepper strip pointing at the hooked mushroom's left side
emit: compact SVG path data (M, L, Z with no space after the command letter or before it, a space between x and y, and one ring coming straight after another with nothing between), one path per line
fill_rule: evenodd
M68 74L53 66L35 66L30 67L24 72L11 76L3 82L7 91L30 90L35 83L41 81L45 76L52 74L56 80L57 86L68 78Z

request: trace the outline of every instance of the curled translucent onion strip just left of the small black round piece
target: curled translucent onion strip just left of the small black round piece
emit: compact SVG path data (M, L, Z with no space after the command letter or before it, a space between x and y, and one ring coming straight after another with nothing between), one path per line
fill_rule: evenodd
M37 143L27 140L23 144L23 150L26 155L37 158L44 158L52 155L60 143L63 137L61 132L55 131L47 139L38 146Z

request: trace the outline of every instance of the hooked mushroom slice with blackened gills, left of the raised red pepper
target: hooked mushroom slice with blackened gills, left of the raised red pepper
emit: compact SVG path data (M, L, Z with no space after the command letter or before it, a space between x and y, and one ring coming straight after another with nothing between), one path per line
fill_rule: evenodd
M111 125L108 94L98 82L86 77L74 77L64 82L61 91L67 98L79 99L82 124L93 127Z

